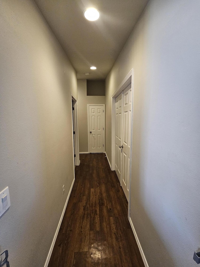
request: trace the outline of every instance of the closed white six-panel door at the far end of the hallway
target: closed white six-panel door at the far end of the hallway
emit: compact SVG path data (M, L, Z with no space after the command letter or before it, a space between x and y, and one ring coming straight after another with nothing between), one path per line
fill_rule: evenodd
M103 153L103 105L89 105L89 152Z

